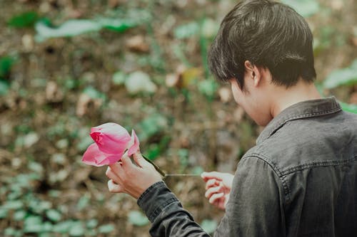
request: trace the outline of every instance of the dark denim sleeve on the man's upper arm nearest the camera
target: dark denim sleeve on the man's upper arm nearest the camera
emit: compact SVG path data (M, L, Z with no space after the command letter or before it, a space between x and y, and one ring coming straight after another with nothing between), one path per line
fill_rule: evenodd
M284 196L271 164L258 157L244 157L214 236L286 236Z

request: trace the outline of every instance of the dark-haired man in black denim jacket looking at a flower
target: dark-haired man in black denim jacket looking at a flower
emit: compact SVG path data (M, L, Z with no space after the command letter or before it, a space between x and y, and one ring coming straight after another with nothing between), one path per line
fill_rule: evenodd
M321 98L312 34L296 11L268 0L228 13L209 53L218 80L266 126L236 174L203 173L226 210L214 236L357 236L357 116ZM152 236L208 236L141 154L111 165L109 190L138 199Z

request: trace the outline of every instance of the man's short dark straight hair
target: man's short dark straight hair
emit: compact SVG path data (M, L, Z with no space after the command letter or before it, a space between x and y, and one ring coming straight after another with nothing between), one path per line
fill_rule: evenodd
M268 68L273 83L312 82L313 36L308 23L291 7L268 0L237 4L223 19L208 53L208 65L218 80L235 78L244 86L244 62Z

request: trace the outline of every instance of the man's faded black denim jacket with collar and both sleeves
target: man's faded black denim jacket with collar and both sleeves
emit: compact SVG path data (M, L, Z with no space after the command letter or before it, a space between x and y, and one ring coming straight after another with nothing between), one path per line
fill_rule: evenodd
M208 236L163 181L138 204L152 236ZM238 163L214 236L357 236L357 115L335 98L283 110Z

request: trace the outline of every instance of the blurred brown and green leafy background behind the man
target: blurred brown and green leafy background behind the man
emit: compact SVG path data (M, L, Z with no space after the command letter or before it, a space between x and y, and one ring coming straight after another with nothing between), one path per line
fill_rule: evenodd
M357 112L356 0L284 0L308 20L325 96ZM237 1L0 0L0 236L149 236L106 167L81 156L91 127L135 129L166 172L233 173L263 127L208 72ZM209 233L223 212L198 177L166 183Z

